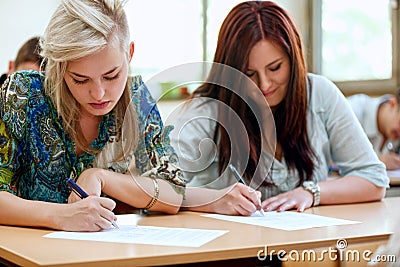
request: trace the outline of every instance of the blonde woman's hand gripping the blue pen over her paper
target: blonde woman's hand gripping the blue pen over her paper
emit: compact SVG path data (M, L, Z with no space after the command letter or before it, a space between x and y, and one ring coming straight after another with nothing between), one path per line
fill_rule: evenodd
M112 210L114 200L89 196L71 204L63 204L61 212L54 214L57 227L64 231L94 232L109 229L111 223L117 220Z

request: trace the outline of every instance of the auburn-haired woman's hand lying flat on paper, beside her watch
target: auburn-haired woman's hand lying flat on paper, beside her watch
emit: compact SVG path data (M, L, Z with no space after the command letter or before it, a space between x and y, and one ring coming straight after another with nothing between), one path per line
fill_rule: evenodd
M297 187L291 191L270 197L261 203L261 207L265 211L285 211L296 209L297 211L304 211L311 207L314 201L314 196L303 189Z

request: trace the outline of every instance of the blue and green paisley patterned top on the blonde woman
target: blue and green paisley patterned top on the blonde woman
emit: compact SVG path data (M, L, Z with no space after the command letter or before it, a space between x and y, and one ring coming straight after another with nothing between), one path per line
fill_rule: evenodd
M94 164L96 155L77 156L75 143L63 130L61 118L44 91L44 73L16 72L0 91L0 191L25 199L65 203L70 189L66 177L75 179L87 168L103 167L125 173L130 162ZM135 159L135 173L171 182L183 193L185 182L175 167L177 157L169 144L172 126L161 121L155 100L140 76L129 79L132 104L139 128L136 151L125 161ZM102 151L116 140L114 113L103 116L99 135L91 146Z

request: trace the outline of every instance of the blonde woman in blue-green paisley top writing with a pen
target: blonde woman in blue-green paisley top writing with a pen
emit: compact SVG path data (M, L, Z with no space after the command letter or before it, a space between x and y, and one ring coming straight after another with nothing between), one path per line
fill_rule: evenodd
M0 224L98 231L115 200L176 213L185 183L155 101L128 76L123 2L63 0L41 49L45 72L13 73L0 94Z

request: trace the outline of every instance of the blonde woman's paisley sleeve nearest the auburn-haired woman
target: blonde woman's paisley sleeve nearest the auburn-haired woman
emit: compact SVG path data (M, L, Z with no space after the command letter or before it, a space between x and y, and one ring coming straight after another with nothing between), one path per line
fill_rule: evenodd
M135 152L137 169L143 176L169 181L183 194L186 183L177 167L178 157L169 140L173 126L164 127L156 101L140 76L133 77L132 95L137 107L140 132Z

